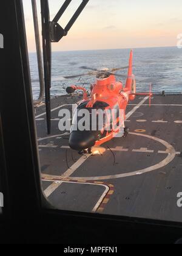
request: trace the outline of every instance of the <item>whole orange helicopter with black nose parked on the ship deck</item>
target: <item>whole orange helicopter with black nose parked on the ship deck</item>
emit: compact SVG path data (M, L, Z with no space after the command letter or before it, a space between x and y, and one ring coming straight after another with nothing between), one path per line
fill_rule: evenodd
M90 75L96 75L96 82L90 87L90 96L88 95L86 88L77 87L75 85L67 87L66 91L68 94L72 94L76 90L83 91L83 101L81 101L81 103L78 105L78 110L87 109L90 111L93 109L102 109L106 110L106 113L108 113L107 111L110 110L123 110L124 112L124 120L123 122L121 122L121 125L118 126L115 130L106 129L106 127L109 126L107 121L102 129L75 130L73 129L73 126L75 125L74 120L78 119L78 112L75 112L75 114L73 115L72 129L69 138L69 146L71 149L76 150L79 153L88 152L89 154L92 154L92 147L101 146L101 144L106 143L109 140L112 140L112 138L116 137L116 134L121 131L121 128L123 128L123 137L127 137L129 133L129 128L124 125L124 121L126 121L125 113L129 101L133 101L136 95L142 95L149 96L149 101L151 102L151 86L149 93L136 93L136 81L135 76L132 73L132 60L133 51L130 52L129 66L125 67L128 68L128 75L125 87L123 87L122 82L116 81L116 75L114 74L116 71L124 68L113 68L110 70L103 69L99 71L96 71L94 69L95 71L88 73ZM119 116L116 116L115 120L112 119L112 123L117 124L118 118ZM110 123L110 121L108 122Z

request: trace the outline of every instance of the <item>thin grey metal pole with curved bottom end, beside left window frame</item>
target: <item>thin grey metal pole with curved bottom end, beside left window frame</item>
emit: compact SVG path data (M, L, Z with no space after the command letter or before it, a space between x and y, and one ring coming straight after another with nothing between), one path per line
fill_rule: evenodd
M44 98L44 72L42 66L42 52L41 52L41 43L39 37L39 24L38 24L38 15L37 15L37 8L36 8L36 0L32 0L32 11L33 11L33 23L34 23L34 30L35 30L35 41L36 41L36 54L38 60L38 70L39 70L39 83L40 83L40 93L38 100L34 101L35 105L38 105L42 102Z

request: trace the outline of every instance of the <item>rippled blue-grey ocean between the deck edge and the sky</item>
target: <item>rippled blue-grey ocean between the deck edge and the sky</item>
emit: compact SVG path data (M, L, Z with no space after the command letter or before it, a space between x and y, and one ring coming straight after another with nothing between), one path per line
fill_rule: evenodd
M95 81L93 76L81 79L64 79L63 76L85 74L90 68L118 68L127 66L130 49L109 49L96 51L69 51L52 53L52 89L51 96L66 94L65 88L70 85L90 87ZM33 98L39 96L38 65L35 53L29 54L30 73L32 78ZM89 70L88 70L89 72ZM124 77L118 77L123 84L127 77L127 69L118 71ZM133 74L136 77L138 92L149 91L152 83L153 92L182 92L182 49L169 48L138 48L133 49Z

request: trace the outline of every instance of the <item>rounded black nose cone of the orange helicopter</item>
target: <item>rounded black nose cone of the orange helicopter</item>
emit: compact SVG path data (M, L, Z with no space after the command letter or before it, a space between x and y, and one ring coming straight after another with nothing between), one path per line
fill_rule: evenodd
M90 131L73 131L70 134L69 146L76 151L92 148L95 145L95 135Z

